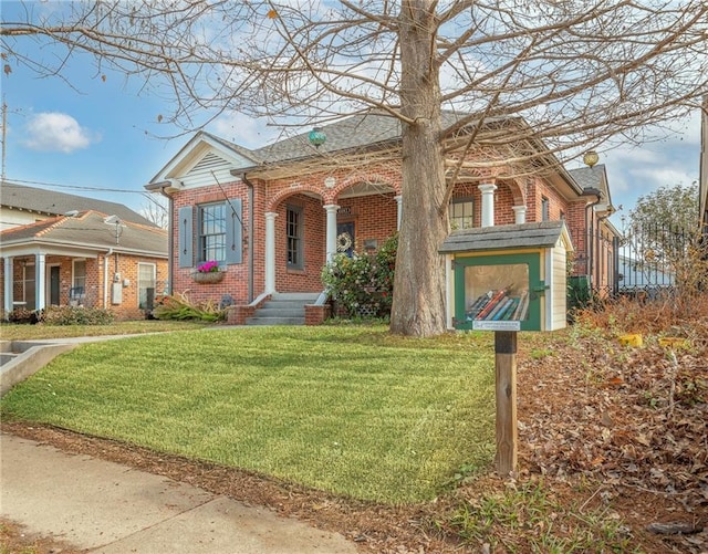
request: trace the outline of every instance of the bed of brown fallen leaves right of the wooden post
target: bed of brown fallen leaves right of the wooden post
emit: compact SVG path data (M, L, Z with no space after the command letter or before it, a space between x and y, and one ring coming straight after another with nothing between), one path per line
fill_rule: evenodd
M522 474L589 489L644 552L708 553L708 317L671 337L569 330L519 370ZM632 343L636 337L627 337ZM641 539L641 540L639 540Z

